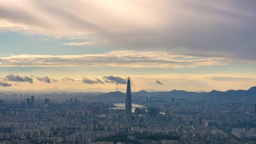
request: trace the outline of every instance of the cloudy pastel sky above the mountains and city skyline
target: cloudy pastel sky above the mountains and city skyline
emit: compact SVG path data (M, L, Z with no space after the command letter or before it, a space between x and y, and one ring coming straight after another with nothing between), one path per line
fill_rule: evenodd
M0 90L256 86L256 2L0 1Z

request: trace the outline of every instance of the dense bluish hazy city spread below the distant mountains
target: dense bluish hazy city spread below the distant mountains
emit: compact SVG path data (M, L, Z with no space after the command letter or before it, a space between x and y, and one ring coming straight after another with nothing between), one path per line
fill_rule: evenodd
M0 143L256 141L254 97L183 97L183 92L176 91L175 96L131 93L129 77L125 97L110 92L103 94L108 99L104 101L85 100L89 93L1 93ZM115 97L123 98L125 104ZM133 100L136 97L142 100Z

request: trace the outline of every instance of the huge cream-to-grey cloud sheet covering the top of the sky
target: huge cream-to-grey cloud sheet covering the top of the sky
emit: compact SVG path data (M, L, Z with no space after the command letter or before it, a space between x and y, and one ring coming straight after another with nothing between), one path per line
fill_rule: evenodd
M1 1L0 29L61 37L89 35L98 41L108 39L120 49L157 48L179 55L255 61L255 4L237 0Z

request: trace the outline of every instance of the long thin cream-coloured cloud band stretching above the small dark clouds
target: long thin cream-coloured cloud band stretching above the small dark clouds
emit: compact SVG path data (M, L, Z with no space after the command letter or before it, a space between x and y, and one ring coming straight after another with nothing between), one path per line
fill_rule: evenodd
M0 67L195 68L226 65L229 58L174 55L162 51L110 51L87 55L14 55L0 57Z

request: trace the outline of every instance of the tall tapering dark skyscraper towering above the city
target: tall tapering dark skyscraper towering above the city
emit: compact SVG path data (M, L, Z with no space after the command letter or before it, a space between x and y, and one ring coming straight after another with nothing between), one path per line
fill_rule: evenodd
M126 101L125 101L125 115L127 120L131 120L131 110L132 110L132 101L131 101L131 82L130 77L127 79L127 88L126 88Z

